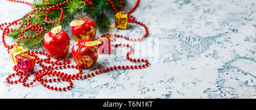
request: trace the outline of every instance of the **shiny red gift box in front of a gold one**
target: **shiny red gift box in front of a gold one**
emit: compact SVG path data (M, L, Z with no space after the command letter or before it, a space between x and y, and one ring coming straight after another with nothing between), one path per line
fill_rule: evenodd
M27 54L19 55L17 58L17 68L23 72L34 70L36 58Z

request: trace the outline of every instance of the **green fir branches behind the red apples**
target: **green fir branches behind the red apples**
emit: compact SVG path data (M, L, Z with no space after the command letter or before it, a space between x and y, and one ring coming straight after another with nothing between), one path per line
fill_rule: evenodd
M60 4L65 0L34 0L32 5L33 9L35 8L49 8L53 5ZM82 3L82 0L71 0L67 4L61 6L64 8L64 16L61 21L61 25L65 28L69 26L69 23L75 18L76 15L79 15L81 12L85 12L86 16L94 19L97 24L97 29L100 33L106 33L110 29L111 21L108 15L114 15L112 6L108 0L90 0L94 5L85 5ZM119 0L112 0L114 2L117 10L120 10ZM127 0L123 0L123 7L126 6ZM82 7L84 6L84 7ZM57 24L47 24L45 21L46 11L36 11L30 19L32 25L38 24L44 28L44 32L40 36L32 39L21 39L19 42L24 47L31 50L43 49L43 37L44 34L49 32L53 27L56 27ZM54 21L60 17L60 10L51 10L48 14L49 21ZM26 23L28 20L28 15L21 19L22 23ZM19 34L22 30L26 29L26 26L17 28L9 33L9 37L13 38L13 42L18 41ZM28 30L23 33L23 36L33 36L35 33L32 30Z

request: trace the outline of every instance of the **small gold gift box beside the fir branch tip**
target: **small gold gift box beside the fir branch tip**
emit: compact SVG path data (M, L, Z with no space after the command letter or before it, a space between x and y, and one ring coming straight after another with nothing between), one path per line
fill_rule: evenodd
M127 14L122 14L122 12L118 12L115 15L115 28L117 29L126 29L127 28L128 16Z

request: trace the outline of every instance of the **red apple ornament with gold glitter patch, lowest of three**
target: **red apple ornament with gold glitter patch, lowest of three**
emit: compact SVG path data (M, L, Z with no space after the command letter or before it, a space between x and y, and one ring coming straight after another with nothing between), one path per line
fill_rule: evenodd
M81 68L90 68L98 59L98 41L83 39L75 42L72 48L73 59Z

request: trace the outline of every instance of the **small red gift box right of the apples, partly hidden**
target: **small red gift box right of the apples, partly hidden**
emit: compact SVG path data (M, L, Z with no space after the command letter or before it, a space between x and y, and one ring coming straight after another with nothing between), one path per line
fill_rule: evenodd
M98 45L98 53L99 54L104 54L104 53L111 54L112 49L111 49L110 42L112 42L113 40L114 40L114 38L110 37L110 36L98 38L98 41L101 42L101 44Z

